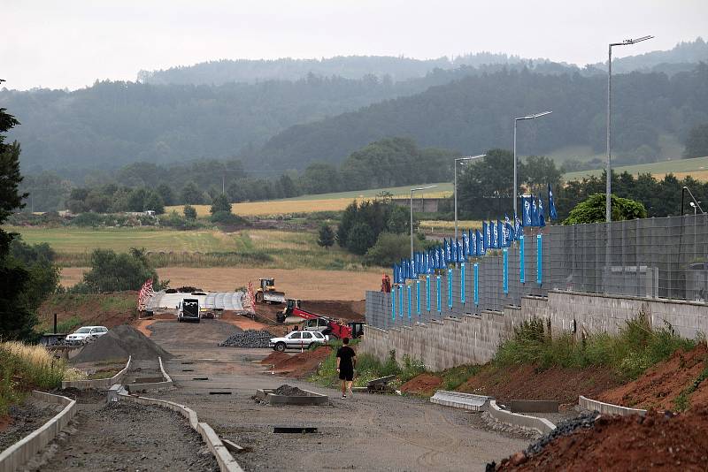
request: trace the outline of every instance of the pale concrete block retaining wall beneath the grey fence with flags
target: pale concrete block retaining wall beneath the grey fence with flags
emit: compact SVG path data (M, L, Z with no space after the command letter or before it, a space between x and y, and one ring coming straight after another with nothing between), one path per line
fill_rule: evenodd
M374 302L380 301L381 293L369 294L366 295L366 319L390 317L389 305ZM489 362L500 341L512 336L514 326L533 316L550 319L554 335L573 332L581 336L582 332L616 333L628 319L642 313L652 326L672 324L685 338L694 338L697 332L708 333L708 306L701 303L550 291L548 297L525 295L520 307L507 306L503 311L481 310L479 314L412 321L387 330L367 325L359 348L382 361L395 350L399 362L407 354L422 360L428 369L442 370L460 364Z

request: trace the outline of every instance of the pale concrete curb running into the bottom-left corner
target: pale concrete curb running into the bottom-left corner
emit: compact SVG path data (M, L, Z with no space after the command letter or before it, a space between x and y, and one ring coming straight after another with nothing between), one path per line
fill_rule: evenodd
M45 403L64 405L64 409L51 418L50 421L42 424L25 438L20 439L0 453L0 472L18 470L23 464L32 459L36 453L40 452L45 445L48 445L52 439L56 438L59 431L63 430L76 415L75 400L37 391L33 391L32 396Z

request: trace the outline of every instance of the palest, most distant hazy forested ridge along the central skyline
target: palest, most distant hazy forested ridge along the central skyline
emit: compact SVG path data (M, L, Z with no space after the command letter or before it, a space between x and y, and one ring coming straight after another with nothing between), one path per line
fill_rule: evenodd
M223 59L196 65L172 67L159 71L140 71L138 80L151 84L207 84L227 82L254 83L262 80L298 80L308 74L345 79L361 79L367 75L399 81L425 77L435 69L460 66L517 64L520 58L506 54L481 52L453 59L413 59L411 57L340 56L322 59L281 58L273 60Z

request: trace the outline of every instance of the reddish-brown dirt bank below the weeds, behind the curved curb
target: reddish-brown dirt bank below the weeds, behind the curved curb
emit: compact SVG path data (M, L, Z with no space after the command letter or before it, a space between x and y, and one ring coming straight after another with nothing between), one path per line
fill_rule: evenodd
M557 400L577 404L578 396L594 398L601 392L620 384L612 370L536 369L524 365L511 369L496 369L488 365L476 376L462 384L458 391L489 395L498 400Z

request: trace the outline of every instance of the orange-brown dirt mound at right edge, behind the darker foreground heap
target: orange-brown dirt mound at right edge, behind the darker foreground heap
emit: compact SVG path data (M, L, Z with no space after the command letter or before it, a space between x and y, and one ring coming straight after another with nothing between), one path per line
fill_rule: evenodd
M604 392L594 400L623 407L673 410L681 391L696 382L706 367L708 349L702 343L688 352L676 351L634 382ZM697 385L696 392L689 395L689 402L692 407L708 407L708 381Z

